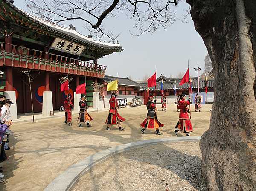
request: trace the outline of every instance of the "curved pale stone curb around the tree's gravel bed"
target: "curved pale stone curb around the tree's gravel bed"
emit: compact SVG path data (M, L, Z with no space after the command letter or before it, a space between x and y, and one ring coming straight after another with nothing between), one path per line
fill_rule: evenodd
M143 141L131 142L124 145L117 145L112 148L102 150L98 153L88 156L84 160L71 165L66 171L56 177L44 191L69 191L70 188L78 181L79 177L86 174L90 169L99 162L108 159L117 154L124 153L134 148L140 148L147 145L153 145L163 142L179 142L179 141L199 141L201 136L190 137L172 137L163 139L148 139Z

